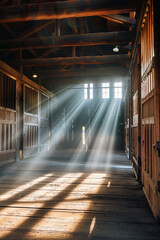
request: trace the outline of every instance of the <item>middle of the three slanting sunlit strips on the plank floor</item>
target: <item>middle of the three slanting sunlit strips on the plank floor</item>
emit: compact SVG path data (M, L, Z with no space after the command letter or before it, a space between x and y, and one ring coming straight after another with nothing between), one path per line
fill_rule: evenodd
M48 184L38 189L37 191L28 194L27 197L21 198L19 201L15 200L14 204L10 204L10 208L4 207L4 209L1 211L1 228L11 229L7 232L7 234L10 234L12 232L12 229L18 229L21 227L23 228L24 226L30 230L30 218L36 218L36 215L42 214L43 218L41 218L41 221L35 220L32 223L32 229L50 229L52 231L54 228L57 229L56 220L53 224L53 218L45 218L45 215L49 213L50 210L46 210L45 213L43 213L40 209L43 207L51 207L52 205L54 207L57 207L59 204L54 203L54 197L60 195L63 190L67 189L67 187L69 187L75 180L77 180L77 178L81 177L81 175L82 173L65 174L62 177L55 179L54 181L50 181ZM52 199L53 201L51 201ZM61 202L62 199L60 198L59 201ZM61 227L62 226L60 226L59 230L61 230Z

